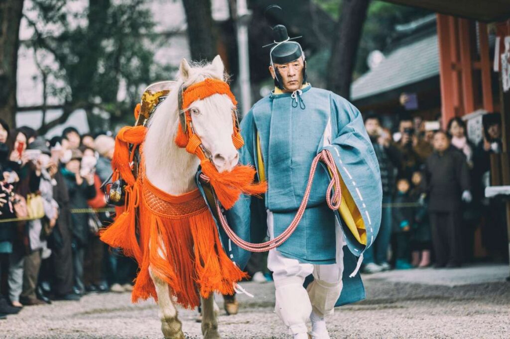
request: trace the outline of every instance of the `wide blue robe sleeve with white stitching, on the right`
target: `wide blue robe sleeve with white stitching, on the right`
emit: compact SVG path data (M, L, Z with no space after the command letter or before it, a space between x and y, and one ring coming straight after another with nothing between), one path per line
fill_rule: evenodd
M379 164L360 111L336 94L331 94L331 125L330 144L324 148L333 155L351 196L350 203L355 204L356 227L361 234L366 232L363 244L345 226L346 222L342 223L349 250L359 256L373 244L379 230L382 209Z

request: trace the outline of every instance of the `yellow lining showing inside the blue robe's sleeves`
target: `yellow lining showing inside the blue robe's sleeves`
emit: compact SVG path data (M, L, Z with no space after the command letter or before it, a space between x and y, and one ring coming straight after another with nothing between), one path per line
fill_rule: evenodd
M262 159L262 151L260 146L260 136L258 132L257 132L257 161L259 163L259 179L262 181L266 179L266 172L264 169L264 161ZM329 174L331 175L331 172L329 172ZM338 173L338 175L340 177L340 187L342 188L342 201L340 203L340 208L338 209L338 212L340 213L340 216L344 220L345 224L351 231L354 238L356 238L356 240L360 244L367 245L367 231L365 228L365 222L363 221L363 217L361 216L360 210L358 206L356 206L356 203L354 202L352 195L347 189L347 186L345 186L345 182L342 178L342 175L340 175L340 173Z

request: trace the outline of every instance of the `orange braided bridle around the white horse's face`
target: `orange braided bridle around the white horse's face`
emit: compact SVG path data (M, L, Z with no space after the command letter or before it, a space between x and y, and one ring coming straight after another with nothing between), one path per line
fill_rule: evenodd
M188 88L181 87L179 89L179 118L181 123L177 129L175 144L179 147L186 148L186 151L191 154L196 154L200 161L210 160L210 156L208 156L210 152L202 145L202 141L195 134L193 122L191 120L190 105L196 100L204 99L214 94L226 94L232 100L234 108L236 107L237 101L234 94L232 94L228 84L221 80L208 78ZM232 113L232 119L234 122L232 142L234 146L239 149L244 145L244 140L239 133L235 111Z

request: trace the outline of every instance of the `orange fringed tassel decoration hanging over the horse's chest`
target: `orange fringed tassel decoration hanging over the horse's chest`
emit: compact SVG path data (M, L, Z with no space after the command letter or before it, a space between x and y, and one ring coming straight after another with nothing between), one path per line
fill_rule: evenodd
M140 271L132 301L157 300L152 274L165 281L177 302L187 308L199 295L234 293L234 284L247 274L223 251L214 219L198 190L169 195L143 177L143 168L126 212L101 235L101 240L136 258ZM138 207L138 239L135 208ZM198 292L199 291L199 292Z

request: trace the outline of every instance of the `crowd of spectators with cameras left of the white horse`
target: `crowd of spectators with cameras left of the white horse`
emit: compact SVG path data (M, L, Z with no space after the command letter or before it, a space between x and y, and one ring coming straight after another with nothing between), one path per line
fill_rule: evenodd
M0 119L0 318L24 306L132 290L136 263L99 240L115 141L73 127L50 140ZM94 210L92 211L91 208Z

